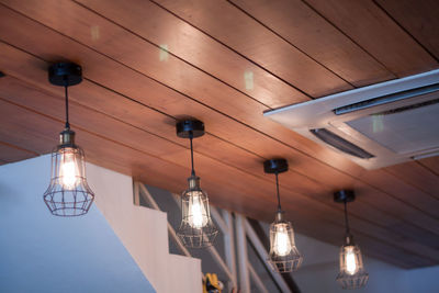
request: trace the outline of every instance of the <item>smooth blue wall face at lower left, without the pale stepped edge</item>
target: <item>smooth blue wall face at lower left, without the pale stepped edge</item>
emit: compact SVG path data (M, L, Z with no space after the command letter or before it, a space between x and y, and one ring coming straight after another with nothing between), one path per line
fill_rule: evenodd
M49 213L49 176L48 156L0 166L0 292L155 292L95 205Z

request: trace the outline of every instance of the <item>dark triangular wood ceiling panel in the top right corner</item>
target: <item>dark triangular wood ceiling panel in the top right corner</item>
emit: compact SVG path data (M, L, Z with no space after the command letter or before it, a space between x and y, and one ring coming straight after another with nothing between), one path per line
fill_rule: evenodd
M439 58L439 2L436 0L375 1L424 47Z

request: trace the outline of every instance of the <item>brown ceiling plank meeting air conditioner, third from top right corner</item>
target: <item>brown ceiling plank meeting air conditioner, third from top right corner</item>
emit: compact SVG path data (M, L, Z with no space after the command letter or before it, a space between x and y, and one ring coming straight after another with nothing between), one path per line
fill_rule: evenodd
M300 0L232 2L354 87L395 78L383 65Z

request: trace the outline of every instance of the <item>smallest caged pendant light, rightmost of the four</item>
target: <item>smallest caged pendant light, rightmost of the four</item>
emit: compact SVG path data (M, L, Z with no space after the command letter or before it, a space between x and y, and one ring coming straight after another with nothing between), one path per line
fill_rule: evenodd
M345 205L346 236L340 249L340 272L337 281L342 289L358 289L365 285L369 274L364 270L363 258L360 248L353 243L348 222L348 202L352 202L356 194L350 190L341 190L334 193L334 201Z

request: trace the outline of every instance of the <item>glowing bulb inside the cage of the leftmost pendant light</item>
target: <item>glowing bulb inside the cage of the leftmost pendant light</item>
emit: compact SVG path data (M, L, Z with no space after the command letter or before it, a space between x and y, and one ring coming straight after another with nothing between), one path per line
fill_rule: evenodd
M80 172L75 159L75 153L64 149L59 164L59 184L71 190L79 184Z

